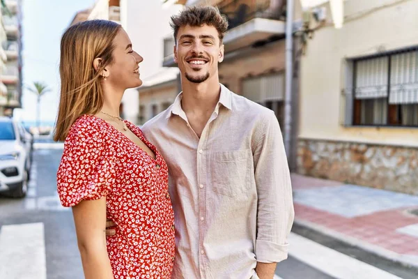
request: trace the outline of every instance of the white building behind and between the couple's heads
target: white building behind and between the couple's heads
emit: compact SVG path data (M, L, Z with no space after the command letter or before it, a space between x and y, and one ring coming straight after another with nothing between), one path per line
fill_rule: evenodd
M145 88L146 84L155 83L155 78L165 73L161 65L163 45L160 42L163 35L169 33L170 16L179 9L178 5L162 6L159 1L144 4L136 0L98 0L91 9L77 13L72 24L94 19L113 20L121 24L130 36L134 50L144 57L144 61L139 64L139 71ZM172 72L172 69L169 71ZM144 100L144 106L148 107L146 97ZM141 120L145 119L142 116L145 110L139 112L140 107L138 90L127 89L120 107L121 116L141 124Z

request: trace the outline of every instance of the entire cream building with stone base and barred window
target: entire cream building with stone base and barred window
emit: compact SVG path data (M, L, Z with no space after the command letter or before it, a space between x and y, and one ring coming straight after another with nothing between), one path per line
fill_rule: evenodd
M320 8L301 58L298 172L417 195L418 1L344 1L341 29Z

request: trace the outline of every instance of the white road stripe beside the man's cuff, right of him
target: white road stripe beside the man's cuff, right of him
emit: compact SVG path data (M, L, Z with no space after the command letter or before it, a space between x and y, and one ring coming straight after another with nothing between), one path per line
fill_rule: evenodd
M376 266L361 262L294 233L289 236L289 243L289 255L335 278L401 279Z

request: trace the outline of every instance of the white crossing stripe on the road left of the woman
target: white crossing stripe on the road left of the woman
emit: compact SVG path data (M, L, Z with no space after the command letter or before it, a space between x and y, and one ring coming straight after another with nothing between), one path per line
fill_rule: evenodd
M43 223L3 225L0 265L0 278L46 279Z

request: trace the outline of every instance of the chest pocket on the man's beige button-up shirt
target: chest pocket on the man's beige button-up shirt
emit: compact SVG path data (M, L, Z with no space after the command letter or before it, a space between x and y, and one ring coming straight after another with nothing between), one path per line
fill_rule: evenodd
M213 192L235 197L248 191L251 149L215 152L213 163Z

